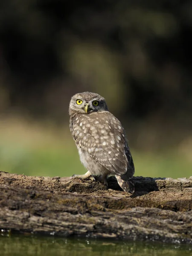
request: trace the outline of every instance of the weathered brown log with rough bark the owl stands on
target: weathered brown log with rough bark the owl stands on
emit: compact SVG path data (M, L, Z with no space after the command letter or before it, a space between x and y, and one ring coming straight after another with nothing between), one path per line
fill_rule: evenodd
M192 243L192 177L134 180L131 195L113 177L106 187L71 177L0 172L0 228Z

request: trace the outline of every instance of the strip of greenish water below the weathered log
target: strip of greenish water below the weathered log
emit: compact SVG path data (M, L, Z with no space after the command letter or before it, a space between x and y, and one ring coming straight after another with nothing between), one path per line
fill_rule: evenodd
M0 232L0 256L187 256L192 244L117 241Z

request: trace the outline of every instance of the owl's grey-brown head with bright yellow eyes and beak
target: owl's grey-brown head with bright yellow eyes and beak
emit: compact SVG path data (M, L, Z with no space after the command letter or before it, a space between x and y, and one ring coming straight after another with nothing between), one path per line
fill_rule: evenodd
M96 111L108 111L105 99L97 93L77 93L70 101L69 114L89 114Z

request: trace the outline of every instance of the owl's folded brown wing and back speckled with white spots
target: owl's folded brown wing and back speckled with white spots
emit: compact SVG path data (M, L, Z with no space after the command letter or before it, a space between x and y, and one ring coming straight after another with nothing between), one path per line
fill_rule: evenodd
M72 134L82 149L114 174L133 176L134 163L125 132L113 114L108 111L90 113L77 117L76 122Z

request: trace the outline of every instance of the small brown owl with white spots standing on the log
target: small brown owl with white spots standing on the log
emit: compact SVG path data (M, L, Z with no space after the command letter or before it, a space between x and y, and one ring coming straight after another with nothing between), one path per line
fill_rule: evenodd
M125 192L134 193L134 163L119 120L108 111L105 99L96 93L77 93L69 105L70 131L79 151L84 175L107 185L107 176L115 175Z

